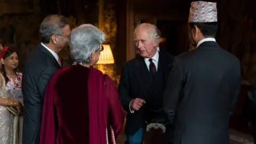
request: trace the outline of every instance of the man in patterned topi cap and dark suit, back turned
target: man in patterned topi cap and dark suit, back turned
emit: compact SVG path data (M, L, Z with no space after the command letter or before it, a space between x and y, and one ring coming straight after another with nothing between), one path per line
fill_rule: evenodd
M163 101L174 144L229 143L241 69L239 60L215 42L217 21L217 3L191 3L188 29L196 49L174 59Z

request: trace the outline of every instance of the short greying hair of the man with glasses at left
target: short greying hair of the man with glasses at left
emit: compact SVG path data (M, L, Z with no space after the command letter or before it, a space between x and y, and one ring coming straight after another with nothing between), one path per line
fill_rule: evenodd
M67 20L64 16L58 14L48 15L41 23L39 34L42 43L49 44L50 37L62 34L62 28L67 25Z

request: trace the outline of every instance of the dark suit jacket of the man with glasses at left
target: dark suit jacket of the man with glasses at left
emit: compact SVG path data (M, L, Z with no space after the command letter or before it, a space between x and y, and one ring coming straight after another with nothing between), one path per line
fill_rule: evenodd
M22 75L24 100L23 144L38 144L42 122L44 94L51 76L60 69L59 63L39 44L28 57Z

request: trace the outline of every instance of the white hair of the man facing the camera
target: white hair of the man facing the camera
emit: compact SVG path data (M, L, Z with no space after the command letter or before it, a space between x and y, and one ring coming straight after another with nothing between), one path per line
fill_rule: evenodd
M134 35L138 29L148 30L149 34L150 34L151 41L154 42L155 38L157 38L157 42L159 44L160 39L161 39L161 31L155 25L153 25L151 23L141 23L135 28Z

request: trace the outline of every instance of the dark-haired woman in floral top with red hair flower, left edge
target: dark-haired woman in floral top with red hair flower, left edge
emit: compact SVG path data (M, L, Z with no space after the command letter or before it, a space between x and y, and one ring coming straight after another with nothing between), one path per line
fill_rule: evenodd
M15 106L19 111L22 107L22 92L21 92L21 77L18 73L17 67L19 64L18 53L9 47L4 47L1 51L1 77L3 77L1 83L5 84L5 91L0 90L1 97L5 98L7 106ZM11 104L9 104L11 103ZM9 105L8 105L9 104ZM1 99L0 99L1 105ZM5 106L6 106L5 105ZM22 135L22 121L21 115L13 115L6 108L0 109L0 143L2 144L19 144L21 143ZM2 123L5 122L5 123Z

